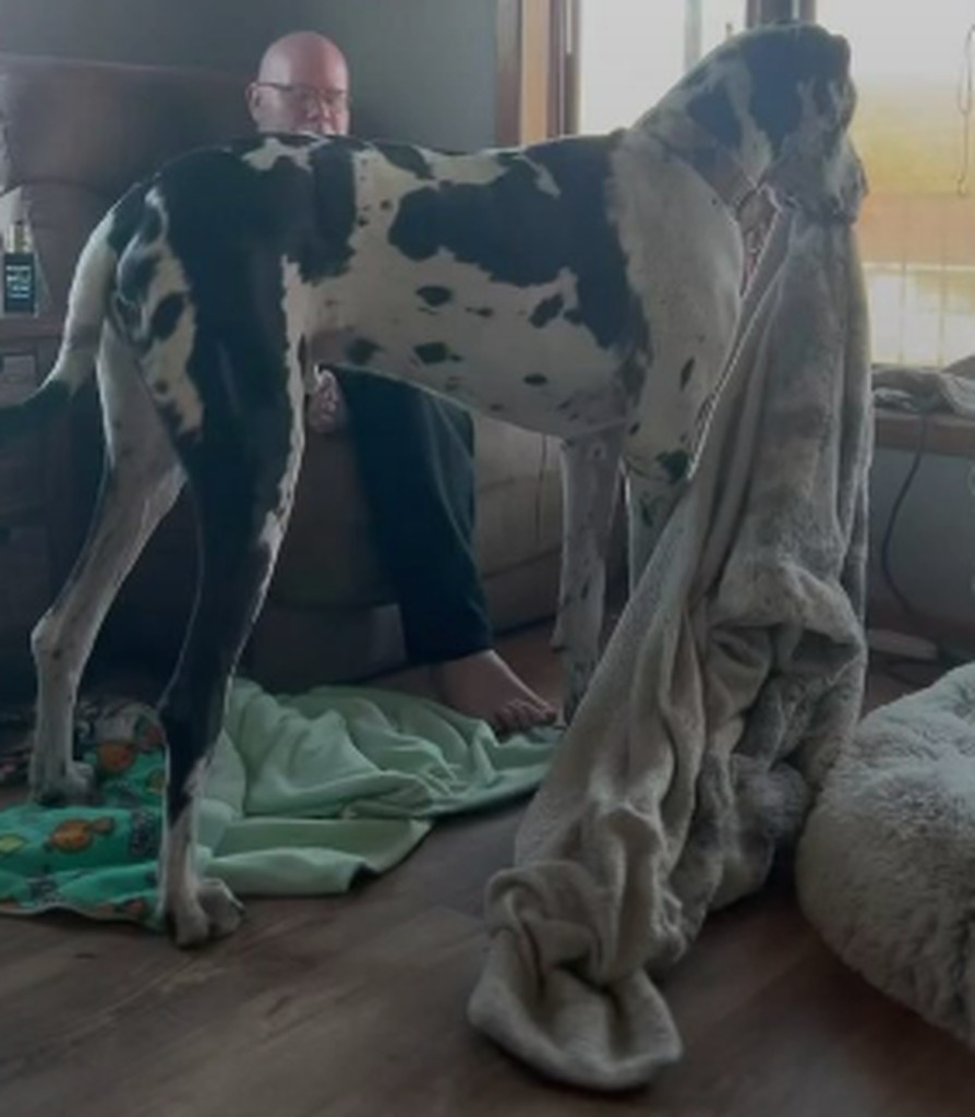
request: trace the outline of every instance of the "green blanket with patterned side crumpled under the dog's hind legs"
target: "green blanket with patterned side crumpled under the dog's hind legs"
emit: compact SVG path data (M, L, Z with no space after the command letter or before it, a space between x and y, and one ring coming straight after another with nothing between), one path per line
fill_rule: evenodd
M499 742L481 722L389 691L276 698L238 680L201 804L200 869L240 895L345 891L401 861L438 817L532 791L557 739ZM97 773L95 805L0 811L0 911L159 929L159 722L138 704L101 705L79 722L78 752Z

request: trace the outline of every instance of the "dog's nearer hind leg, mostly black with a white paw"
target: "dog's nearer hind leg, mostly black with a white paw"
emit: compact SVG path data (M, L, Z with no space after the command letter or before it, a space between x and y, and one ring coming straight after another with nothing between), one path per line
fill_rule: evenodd
M242 331L241 344L247 344ZM181 946L230 934L240 923L241 907L226 885L197 873L197 806L230 677L287 526L304 447L304 389L296 360L285 371L279 362L255 367L259 357L254 352L212 356L222 362L222 375L212 370L216 386L203 427L183 456L197 508L202 575L187 642L162 703L170 762L160 897ZM238 375L237 362L243 361L250 366ZM238 394L247 376L260 378L259 398Z

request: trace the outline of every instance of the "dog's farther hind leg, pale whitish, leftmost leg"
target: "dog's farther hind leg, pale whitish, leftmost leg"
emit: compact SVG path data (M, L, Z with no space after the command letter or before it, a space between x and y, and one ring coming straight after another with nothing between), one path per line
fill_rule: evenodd
M37 623L35 798L84 801L92 774L71 758L78 685L105 614L146 540L172 507L182 470L127 349L106 331L98 361L105 470L88 537L57 601Z

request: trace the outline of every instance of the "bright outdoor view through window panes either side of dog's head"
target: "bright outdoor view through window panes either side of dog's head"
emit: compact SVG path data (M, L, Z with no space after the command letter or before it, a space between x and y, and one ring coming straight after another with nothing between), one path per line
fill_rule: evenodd
M704 52L743 29L745 0L698 2ZM582 0L584 132L633 123L679 80L690 7ZM975 107L959 182L975 0L819 0L818 17L850 40L860 90L853 137L871 184L860 240L874 360L943 365L975 354Z

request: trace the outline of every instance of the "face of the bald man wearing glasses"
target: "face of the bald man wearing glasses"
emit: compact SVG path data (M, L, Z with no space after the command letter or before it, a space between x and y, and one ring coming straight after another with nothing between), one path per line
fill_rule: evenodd
M337 51L277 60L248 90L260 132L346 135L350 124L348 67Z

